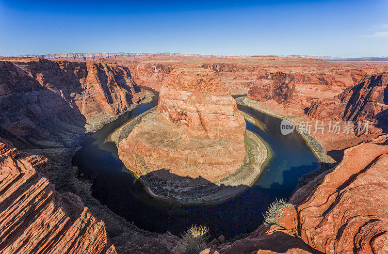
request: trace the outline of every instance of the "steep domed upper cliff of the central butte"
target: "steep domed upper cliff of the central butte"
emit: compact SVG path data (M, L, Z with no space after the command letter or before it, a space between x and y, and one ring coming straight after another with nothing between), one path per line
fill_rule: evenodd
M217 75L203 68L175 69L159 95L158 111L189 137L243 143L245 120Z

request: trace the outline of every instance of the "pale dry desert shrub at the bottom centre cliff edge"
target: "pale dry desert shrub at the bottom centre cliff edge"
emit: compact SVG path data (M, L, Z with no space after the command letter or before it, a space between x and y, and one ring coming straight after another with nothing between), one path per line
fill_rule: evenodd
M177 254L199 254L206 249L209 239L209 228L206 226L192 225L182 235L179 240Z

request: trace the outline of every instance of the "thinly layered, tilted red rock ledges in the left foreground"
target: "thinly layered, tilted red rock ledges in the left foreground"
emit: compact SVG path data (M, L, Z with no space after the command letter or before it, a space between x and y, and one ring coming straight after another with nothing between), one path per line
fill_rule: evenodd
M30 164L46 159L19 152L4 140L0 154L1 253L116 253L104 222L75 194L55 191Z

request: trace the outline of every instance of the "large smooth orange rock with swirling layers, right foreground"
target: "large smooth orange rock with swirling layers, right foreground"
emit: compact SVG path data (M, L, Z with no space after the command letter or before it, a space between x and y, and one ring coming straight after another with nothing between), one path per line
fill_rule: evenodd
M308 245L323 253L388 252L386 139L347 149L334 170L292 196Z

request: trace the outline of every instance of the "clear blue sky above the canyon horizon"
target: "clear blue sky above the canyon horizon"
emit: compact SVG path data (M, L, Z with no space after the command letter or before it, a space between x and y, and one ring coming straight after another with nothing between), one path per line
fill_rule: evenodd
M0 55L388 56L388 0L0 0Z

